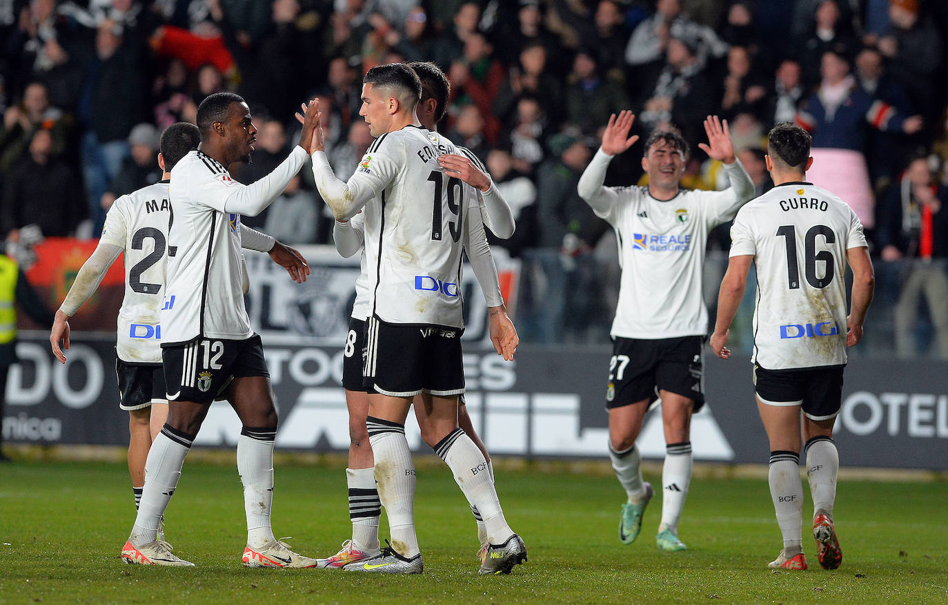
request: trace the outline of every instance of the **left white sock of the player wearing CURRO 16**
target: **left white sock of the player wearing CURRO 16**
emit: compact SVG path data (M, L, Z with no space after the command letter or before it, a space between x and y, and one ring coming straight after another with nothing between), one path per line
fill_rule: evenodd
M767 476L774 500L776 523L783 535L783 554L793 558L803 552L803 482L800 481L800 454L771 452Z

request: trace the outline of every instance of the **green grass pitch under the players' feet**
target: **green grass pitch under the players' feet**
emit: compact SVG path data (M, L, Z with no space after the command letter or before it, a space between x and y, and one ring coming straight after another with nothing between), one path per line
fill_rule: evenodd
M350 533L340 468L277 467L274 528L309 556ZM807 572L766 569L780 537L767 484L696 479L685 505L684 553L655 549L648 508L639 541L616 538L614 478L499 470L501 504L529 549L510 576L477 575L475 525L447 469L421 467L415 520L422 576L246 569L240 480L230 466L185 465L168 510L175 552L193 569L124 565L134 521L125 467L23 462L0 467L0 602L946 602L948 486L847 481L838 488L845 559ZM649 478L653 483L656 477ZM810 515L809 505L807 514ZM383 535L386 523L382 522ZM807 528L804 528L806 538ZM8 544L9 542L9 544Z

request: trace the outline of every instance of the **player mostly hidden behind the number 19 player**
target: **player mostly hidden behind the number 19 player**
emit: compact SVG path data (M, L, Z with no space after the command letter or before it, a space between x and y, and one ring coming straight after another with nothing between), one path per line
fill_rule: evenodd
M444 72L435 64L416 62L409 64L409 66L418 75L422 83L422 98L417 106L416 115L423 126L434 131L437 122L444 118L447 111L450 83L448 83ZM298 118L300 118L299 115ZM498 355L510 359L513 358L519 340L513 322L507 317L506 307L501 298L497 268L494 266L490 247L487 245L483 223L490 221L489 214L493 211L497 221L492 221L491 224L499 223L499 226L495 225L494 229L500 231L500 236L509 237L513 234L515 228L513 213L501 193L496 191L497 188L483 169L483 164L465 148L458 147L457 149L460 154L450 158L447 155L442 156L442 161L448 163L453 161L462 180L476 186L479 190L486 190L481 191L482 198L486 200L483 207L487 207L483 209L483 214L481 211L471 211L468 214L464 247L487 302L488 321L494 348ZM337 221L333 231L333 241L339 253L346 258L361 251L360 265L362 270L356 279L356 302L353 305L352 319L346 337L342 362L342 382L346 391L346 405L349 408L351 439L346 479L349 487L349 516L353 523L353 537L351 540L342 543L342 549L336 555L328 559L319 559L318 566L325 569L338 569L347 564L371 559L378 555L378 520L381 512L378 490L375 488L374 459L372 449L369 447L369 434L365 424L369 412L369 397L362 380L365 321L369 315L366 284L368 277L364 247L364 213L356 214L349 221ZM417 404L414 406L415 414L424 435L429 427L426 422L427 418L424 416L425 407L420 395L415 397L415 403ZM487 471L493 478L494 472L490 456L487 454L487 449L477 431L474 430L463 396L459 401L458 426L481 450L484 459L487 461ZM488 547L486 528L480 512L473 504L471 505L471 511L477 522L478 540L481 542L478 556L483 562L483 554Z

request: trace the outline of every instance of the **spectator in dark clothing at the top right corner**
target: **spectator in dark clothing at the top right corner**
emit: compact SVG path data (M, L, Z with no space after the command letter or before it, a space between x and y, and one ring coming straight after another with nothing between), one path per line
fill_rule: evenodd
M890 26L879 40L879 51L888 60L892 75L908 88L921 115L934 119L942 57L942 37L932 18L921 13L919 0L891 0Z

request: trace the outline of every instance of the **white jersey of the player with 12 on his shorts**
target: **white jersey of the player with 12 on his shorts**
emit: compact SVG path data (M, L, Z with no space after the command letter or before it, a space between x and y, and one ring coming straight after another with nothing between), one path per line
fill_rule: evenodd
M253 335L242 291L240 214L226 213L234 188L220 163L200 151L184 156L172 170L174 222L168 235L168 262L162 345L208 339L248 339Z

